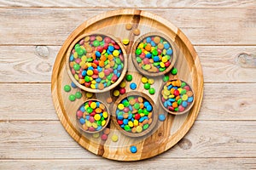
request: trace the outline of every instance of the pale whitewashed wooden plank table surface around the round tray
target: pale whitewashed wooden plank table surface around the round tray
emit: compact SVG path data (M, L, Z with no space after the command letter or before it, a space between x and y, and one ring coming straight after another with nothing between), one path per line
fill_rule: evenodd
M50 94L55 57L68 35L117 8L170 20L189 37L203 68L194 126L146 161L109 161L84 150L62 127ZM256 169L255 0L0 0L0 21L0 169Z

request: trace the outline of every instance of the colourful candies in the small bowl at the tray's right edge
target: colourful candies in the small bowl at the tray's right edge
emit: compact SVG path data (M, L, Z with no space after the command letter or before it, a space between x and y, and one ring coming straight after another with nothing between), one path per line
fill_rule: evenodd
M194 100L191 88L181 80L166 82L160 97L167 110L179 112L185 111Z

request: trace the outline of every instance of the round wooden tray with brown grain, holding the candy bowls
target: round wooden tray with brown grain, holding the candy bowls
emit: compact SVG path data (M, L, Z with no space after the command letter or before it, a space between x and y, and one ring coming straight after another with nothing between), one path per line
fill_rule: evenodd
M154 95L148 94L148 90L143 88L141 78L143 77L137 69L132 65L131 61L131 47L140 36L135 36L131 31L125 30L125 24L131 23L132 30L139 29L141 35L149 32L160 32L167 35L173 42L173 47L176 49L177 61L174 65L177 68L178 74L172 76L168 73L170 79L181 78L185 82L189 82L191 88L195 93L195 105L191 110L183 115L174 116L167 114L158 104L158 95L161 85L164 83L162 77L154 77L154 85L156 93ZM85 92L82 91L82 99L76 99L71 102L68 99L70 94L75 94L80 91L79 88L73 88L71 92L67 93L63 90L66 84L70 84L72 80L68 77L66 69L66 55L70 44L79 36L93 31L104 32L104 34L111 34L119 39L129 38L130 43L125 46L126 54L128 54L128 74L133 76L132 82L137 83L136 91L148 94L154 101L155 108L159 113L166 115L164 122L158 121L154 129L147 135L141 138L131 138L120 133L117 127L114 126L111 120L108 123L110 133L108 139L102 141L100 138L95 139L89 133L82 132L76 125L76 111L79 105L83 104L87 99ZM126 82L126 92L132 91L129 88L131 82ZM52 98L55 105L55 110L60 118L60 121L67 130L67 133L77 141L86 150L92 153L103 156L108 159L118 161L137 161L143 160L152 156L157 156L160 153L169 150L174 144L183 138L188 133L189 128L192 127L198 112L201 108L201 100L203 96L203 76L201 70L200 60L195 52L189 39L176 26L173 26L168 20L162 19L160 16L151 14L137 9L121 9L117 11L109 11L105 14L97 15L90 20L85 21L67 38L61 47L59 54L55 59L51 80ZM113 91L113 90L112 90ZM113 97L113 92L108 91L101 94L94 94L93 99L99 99L104 103L109 96ZM113 103L117 98L113 97ZM108 108L113 108L113 105L108 105ZM111 110L110 110L111 112ZM158 115L156 115L157 117ZM113 142L111 136L118 135L119 140ZM135 145L137 153L131 153L130 147Z

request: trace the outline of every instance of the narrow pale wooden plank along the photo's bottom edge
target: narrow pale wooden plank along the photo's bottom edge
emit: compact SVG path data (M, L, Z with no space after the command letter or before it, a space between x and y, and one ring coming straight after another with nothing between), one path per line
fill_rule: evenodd
M107 159L77 159L77 160L2 160L3 169L253 169L256 168L255 158L195 158L195 159L164 159L155 157L146 161L121 162Z

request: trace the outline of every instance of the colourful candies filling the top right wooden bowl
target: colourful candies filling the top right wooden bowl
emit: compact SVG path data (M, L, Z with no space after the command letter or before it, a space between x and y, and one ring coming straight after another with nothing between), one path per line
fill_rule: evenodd
M146 37L135 51L139 67L148 72L162 72L171 65L172 47L163 37Z

